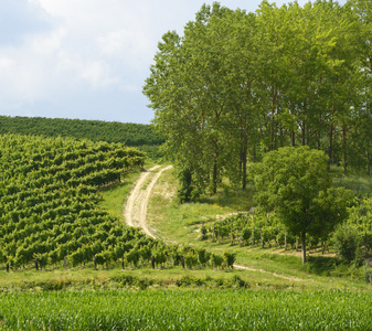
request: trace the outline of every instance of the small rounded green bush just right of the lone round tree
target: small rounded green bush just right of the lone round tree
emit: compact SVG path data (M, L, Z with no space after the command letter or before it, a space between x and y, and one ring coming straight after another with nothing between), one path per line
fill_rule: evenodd
M361 246L358 229L349 224L339 225L333 234L333 245L337 254L346 263L355 260L358 248Z

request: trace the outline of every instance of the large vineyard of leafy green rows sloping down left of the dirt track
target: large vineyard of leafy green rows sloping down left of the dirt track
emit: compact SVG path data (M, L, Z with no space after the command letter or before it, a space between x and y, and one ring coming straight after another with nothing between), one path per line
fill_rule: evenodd
M151 241L97 206L99 188L144 166L120 143L0 137L0 260L17 269L108 264Z

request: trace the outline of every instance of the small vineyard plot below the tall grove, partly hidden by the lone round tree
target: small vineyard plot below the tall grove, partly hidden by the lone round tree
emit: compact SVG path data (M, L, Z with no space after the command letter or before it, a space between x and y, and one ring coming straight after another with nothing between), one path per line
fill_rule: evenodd
M359 236L363 238L365 253L372 249L372 200L361 199L363 203L358 203L350 209L349 223L358 228ZM332 245L333 233L327 236L309 236L308 248L320 248L325 254ZM298 250L298 237L288 232L275 213L251 212L237 213L224 220L209 220L201 226L201 239L238 244L261 248L279 247Z

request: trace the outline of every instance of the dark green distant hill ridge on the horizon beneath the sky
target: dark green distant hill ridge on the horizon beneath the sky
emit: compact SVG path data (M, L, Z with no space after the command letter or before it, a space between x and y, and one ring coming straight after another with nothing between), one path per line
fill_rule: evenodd
M0 116L0 135L19 134L70 137L92 141L120 142L126 146L158 146L163 138L151 125L44 117Z

